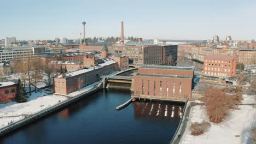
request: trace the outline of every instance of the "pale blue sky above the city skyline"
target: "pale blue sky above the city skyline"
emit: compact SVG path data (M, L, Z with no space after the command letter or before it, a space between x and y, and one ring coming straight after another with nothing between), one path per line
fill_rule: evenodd
M0 39L120 35L143 39L256 39L255 0L8 0L0 2Z

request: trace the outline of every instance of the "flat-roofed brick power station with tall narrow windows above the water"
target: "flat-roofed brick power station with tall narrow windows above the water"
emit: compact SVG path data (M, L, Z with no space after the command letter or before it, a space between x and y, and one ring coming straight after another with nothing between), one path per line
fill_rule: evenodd
M185 101L191 99L193 67L144 65L132 76L132 97Z

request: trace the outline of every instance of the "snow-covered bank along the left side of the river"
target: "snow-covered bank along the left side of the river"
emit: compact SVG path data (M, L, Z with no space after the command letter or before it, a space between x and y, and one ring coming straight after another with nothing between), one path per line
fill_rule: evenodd
M43 92L33 92L30 98L27 99L27 103L13 101L2 104L0 105L0 128L7 126L11 121L16 122L25 118L25 116L33 115L64 100L67 100L67 97L54 94L46 95Z

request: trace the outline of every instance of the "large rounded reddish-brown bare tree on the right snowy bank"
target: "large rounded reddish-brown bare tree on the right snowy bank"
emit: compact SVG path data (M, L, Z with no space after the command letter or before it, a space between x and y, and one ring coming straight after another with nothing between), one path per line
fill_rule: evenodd
M210 121L219 123L223 121L228 110L234 107L236 101L234 96L228 97L222 89L210 87L205 93L205 104Z

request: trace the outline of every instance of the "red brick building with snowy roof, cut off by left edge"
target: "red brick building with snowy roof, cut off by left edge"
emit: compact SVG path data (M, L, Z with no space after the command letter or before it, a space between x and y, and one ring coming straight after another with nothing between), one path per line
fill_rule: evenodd
M12 81L0 82L0 103L14 101L16 88L16 84Z

